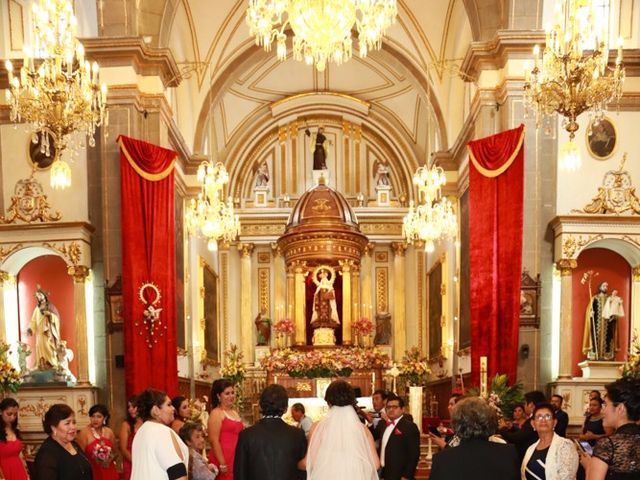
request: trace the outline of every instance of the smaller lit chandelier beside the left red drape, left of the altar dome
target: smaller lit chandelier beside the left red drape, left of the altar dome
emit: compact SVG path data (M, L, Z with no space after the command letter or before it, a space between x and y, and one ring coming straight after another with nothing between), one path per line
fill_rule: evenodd
M191 199L185 214L187 229L192 234L199 228L209 239L207 247L211 251L218 248L218 240L231 242L240 234L239 215L233 213L231 197L223 200L223 189L229 182L229 174L220 162L202 162L198 167L198 182L202 190L198 199Z

